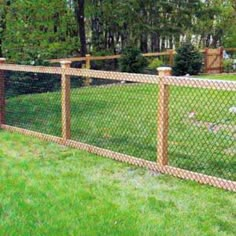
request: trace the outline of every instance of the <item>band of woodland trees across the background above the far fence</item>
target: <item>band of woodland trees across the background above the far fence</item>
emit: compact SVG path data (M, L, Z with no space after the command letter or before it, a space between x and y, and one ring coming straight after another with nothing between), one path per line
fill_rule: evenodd
M0 0L0 56L20 63L90 53L236 47L235 0Z

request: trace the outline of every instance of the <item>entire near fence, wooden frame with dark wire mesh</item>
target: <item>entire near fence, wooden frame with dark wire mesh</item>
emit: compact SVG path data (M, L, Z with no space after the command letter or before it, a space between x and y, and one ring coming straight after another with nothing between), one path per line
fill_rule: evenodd
M236 82L0 65L1 128L236 191Z

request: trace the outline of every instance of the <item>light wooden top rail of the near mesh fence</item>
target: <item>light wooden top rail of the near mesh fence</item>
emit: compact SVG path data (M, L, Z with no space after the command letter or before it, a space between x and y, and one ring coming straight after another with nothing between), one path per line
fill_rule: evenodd
M15 65L15 64L0 64L0 70L57 74L57 75L64 73L65 75L70 75L70 76L89 77L94 79L107 79L116 81L129 81L129 82L147 83L147 84L158 84L160 79L159 76L147 75L147 74L133 74L124 72L98 71L98 70L76 69L76 68L27 66L27 65ZM236 91L236 81L170 76L170 77L165 77L164 83L167 85L182 86L182 87Z

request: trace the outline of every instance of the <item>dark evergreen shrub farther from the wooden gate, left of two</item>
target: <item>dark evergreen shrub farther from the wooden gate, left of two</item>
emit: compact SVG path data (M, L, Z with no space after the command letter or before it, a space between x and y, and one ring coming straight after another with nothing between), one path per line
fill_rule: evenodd
M127 47L119 61L120 70L130 73L142 73L147 65L148 61L141 51L133 47Z

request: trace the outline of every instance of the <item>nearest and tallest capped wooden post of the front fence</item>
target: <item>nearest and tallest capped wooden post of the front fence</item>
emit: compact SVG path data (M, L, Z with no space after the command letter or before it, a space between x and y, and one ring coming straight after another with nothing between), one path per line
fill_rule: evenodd
M166 76L171 76L170 67L159 67L160 76L158 93L158 130L157 130L157 162L161 166L168 165L168 129L169 129L169 85Z

